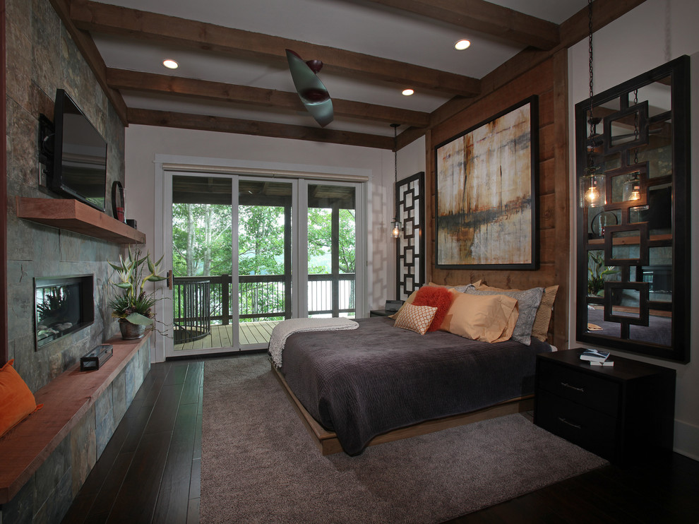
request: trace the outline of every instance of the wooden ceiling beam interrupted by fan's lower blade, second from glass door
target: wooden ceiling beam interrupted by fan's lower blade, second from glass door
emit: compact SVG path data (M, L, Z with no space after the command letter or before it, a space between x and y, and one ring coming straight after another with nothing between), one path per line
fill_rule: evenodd
M107 83L113 89L126 89L147 93L165 93L206 100L253 104L263 107L277 107L290 111L306 111L297 93L274 89L251 88L222 82L182 78L180 76L141 73L124 69L107 69ZM426 127L429 113L386 107L352 100L333 99L336 117L346 117L388 124L398 122L408 126Z

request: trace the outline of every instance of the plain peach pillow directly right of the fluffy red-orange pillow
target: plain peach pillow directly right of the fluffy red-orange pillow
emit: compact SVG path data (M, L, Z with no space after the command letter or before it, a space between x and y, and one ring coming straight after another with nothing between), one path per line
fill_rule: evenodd
M441 331L482 342L510 339L519 315L516 299L503 294L449 292L454 295L454 302L444 317Z

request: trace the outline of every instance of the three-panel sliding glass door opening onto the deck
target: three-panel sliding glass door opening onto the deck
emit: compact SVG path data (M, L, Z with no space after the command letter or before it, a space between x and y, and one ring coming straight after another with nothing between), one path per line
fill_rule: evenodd
M356 184L165 175L166 357L263 349L285 318L355 315Z

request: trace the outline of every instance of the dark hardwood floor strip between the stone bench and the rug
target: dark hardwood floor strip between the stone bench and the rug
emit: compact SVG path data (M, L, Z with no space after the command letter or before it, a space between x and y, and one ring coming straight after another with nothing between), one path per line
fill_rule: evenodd
M64 523L199 522L203 371L151 366Z

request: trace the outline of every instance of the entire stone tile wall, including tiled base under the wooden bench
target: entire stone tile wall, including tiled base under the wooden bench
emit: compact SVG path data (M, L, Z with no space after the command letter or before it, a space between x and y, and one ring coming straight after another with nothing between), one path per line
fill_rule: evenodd
M121 246L16 217L16 196L61 198L45 187L37 155L39 115L53 119L64 89L107 140L107 210L112 181L124 183L124 125L49 0L6 0L8 344L15 367L37 391L119 333L107 308L107 260ZM95 275L92 326L35 349L35 277ZM124 417L150 369L150 340L61 442L32 479L0 508L0 524L59 523Z

